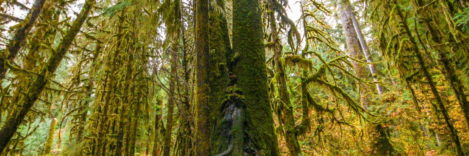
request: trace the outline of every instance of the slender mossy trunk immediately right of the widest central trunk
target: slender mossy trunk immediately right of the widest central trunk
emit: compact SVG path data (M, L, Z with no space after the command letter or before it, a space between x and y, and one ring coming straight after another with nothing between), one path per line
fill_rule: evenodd
M279 83L279 97L280 102L279 105L281 107L281 122L284 126L285 130L285 141L287 143L287 148L290 152L291 156L298 156L301 154L300 144L298 143L298 139L296 137L296 130L295 130L295 119L293 117L293 106L290 102L290 94L287 90L287 77L285 76L285 65L282 65L280 61L280 57L282 57L282 49L280 45L279 33L277 31L277 24L275 21L275 8L274 3L278 3L276 0L269 0L269 21L270 21L270 29L271 29L271 36L273 42L273 57L275 62L275 69L277 70L278 77L277 82Z

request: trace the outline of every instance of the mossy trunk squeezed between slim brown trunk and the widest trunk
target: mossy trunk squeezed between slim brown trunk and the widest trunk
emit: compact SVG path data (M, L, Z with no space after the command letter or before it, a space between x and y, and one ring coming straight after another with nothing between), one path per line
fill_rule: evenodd
M226 53L231 52L231 44L228 36L227 12L225 8L225 0L215 0L209 2L209 88L210 88L210 126L211 129L211 154L216 155L226 151L229 147L230 137L223 133L231 127L223 124L223 110L227 107L223 105L225 99L225 90L228 86L228 70L226 62ZM216 6L214 6L216 4Z

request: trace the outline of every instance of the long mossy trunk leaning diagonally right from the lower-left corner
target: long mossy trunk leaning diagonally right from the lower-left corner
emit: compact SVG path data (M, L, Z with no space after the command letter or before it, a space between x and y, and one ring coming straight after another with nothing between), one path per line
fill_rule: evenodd
M53 74L59 64L68 51L68 48L75 39L76 34L80 31L83 22L86 20L88 13L91 11L91 7L94 5L94 0L87 0L83 6L80 14L73 22L72 27L67 31L61 43L54 49L54 53L50 56L49 60L45 64L45 67L41 69L38 77L32 82L30 87L26 90L24 96L18 101L18 104L23 104L23 107L19 111L15 111L15 117L8 119L5 125L0 130L0 154L6 148L13 134L15 134L18 126L20 126L26 114L30 111L30 108L36 102L37 98L41 94L50 77L47 75Z

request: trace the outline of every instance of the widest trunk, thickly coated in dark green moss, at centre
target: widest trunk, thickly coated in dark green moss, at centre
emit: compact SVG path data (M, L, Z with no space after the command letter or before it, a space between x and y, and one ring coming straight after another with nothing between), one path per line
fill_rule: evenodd
M237 85L246 101L246 152L279 156L267 88L267 67L258 0L233 1L233 50Z

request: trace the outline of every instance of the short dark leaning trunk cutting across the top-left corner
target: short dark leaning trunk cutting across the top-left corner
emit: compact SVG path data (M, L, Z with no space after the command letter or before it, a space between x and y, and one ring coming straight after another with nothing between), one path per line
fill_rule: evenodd
M7 72L7 69L5 68L5 61L8 60L12 62L13 59L15 59L16 55L23 46L24 41L28 37L29 31L32 29L34 23L36 23L36 19L38 19L39 15L41 14L45 1L46 0L36 0L30 9L30 12L26 16L26 19L19 23L21 27L16 30L15 36L13 36L12 40L10 40L10 43L8 43L5 53L0 56L0 79L3 79L5 73Z

